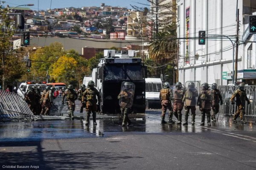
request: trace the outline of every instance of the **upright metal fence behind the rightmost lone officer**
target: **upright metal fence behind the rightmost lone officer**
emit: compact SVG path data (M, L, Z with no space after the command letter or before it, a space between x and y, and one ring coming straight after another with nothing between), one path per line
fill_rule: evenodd
M232 105L230 98L238 86L218 86L223 98L223 105L220 106L219 114L233 115L236 112L236 104ZM250 100L249 105L245 105L245 116L256 116L256 86L245 86L247 98ZM236 99L235 99L236 100ZM246 102L247 103L247 102Z

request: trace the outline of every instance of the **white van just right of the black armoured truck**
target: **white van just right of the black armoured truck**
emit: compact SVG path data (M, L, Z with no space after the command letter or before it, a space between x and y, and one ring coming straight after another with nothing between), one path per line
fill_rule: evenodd
M160 90L162 89L161 78L145 78L146 88L146 108L161 108L161 101L159 99Z

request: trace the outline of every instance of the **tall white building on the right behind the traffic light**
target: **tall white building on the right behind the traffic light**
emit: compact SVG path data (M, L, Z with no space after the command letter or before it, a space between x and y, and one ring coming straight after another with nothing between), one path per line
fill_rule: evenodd
M179 81L199 81L201 84L232 83L233 45L236 35L236 0L177 0L179 18ZM256 45L242 39L256 40L256 36L244 33L248 27L248 15L256 11L255 0L238 0L239 49L238 81L256 85ZM206 31L206 44L198 45L198 31ZM224 37L229 36L232 42ZM248 36L247 36L248 35ZM236 48L235 48L236 49ZM195 55L198 54L198 60ZM247 62L250 59L250 62Z

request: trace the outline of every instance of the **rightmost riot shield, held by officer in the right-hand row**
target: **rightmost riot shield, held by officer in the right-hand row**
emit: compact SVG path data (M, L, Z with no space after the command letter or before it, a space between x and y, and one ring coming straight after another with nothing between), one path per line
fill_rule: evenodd
M214 90L212 90L209 86L209 88L204 88L204 84L201 85L201 91L200 91L200 101L199 106L202 109L212 109L213 104L213 98L214 98Z

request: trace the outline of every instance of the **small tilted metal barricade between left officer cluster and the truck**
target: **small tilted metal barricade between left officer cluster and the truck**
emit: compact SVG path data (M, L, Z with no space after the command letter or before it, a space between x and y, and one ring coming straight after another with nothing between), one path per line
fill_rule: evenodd
M57 97L53 99L52 107L50 109L49 115L66 115L68 110L67 104L62 104L62 98ZM64 99L64 103L66 103L66 99Z

